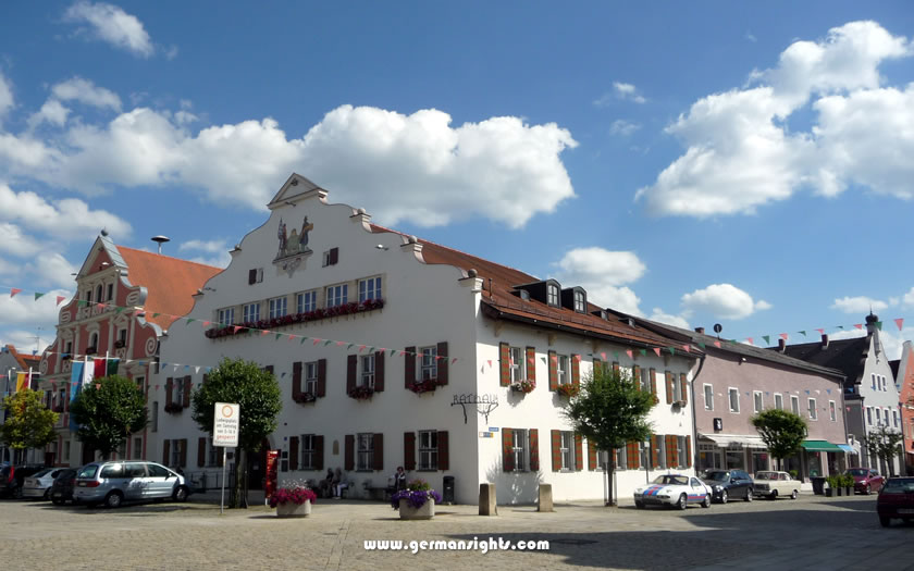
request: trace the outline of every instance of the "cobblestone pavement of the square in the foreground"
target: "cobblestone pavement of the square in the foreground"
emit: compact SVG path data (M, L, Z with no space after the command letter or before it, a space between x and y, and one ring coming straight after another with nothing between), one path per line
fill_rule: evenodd
M884 530L875 496L730 502L687 511L630 505L439 506L400 521L386 504L319 500L310 518L257 506L118 510L0 501L0 570L18 569L914 569L914 524ZM218 504L218 496L215 497ZM366 541L548 541L548 550L368 550Z

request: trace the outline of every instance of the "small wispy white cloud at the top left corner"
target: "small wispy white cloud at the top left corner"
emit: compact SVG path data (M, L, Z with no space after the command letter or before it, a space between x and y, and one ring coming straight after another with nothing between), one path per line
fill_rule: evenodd
M64 20L88 24L91 36L134 55L149 58L156 51L143 22L115 5L79 1L66 9Z

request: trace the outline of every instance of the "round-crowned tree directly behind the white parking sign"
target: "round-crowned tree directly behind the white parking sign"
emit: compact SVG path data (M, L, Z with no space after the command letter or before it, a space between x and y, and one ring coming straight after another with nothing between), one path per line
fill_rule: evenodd
M235 461L235 485L228 499L230 508L247 508L243 476L250 452L260 450L260 443L272 434L283 408L280 384L273 373L242 359L223 359L207 381L194 392L193 418L201 431L212 435L213 406L230 402L240 406L238 452Z

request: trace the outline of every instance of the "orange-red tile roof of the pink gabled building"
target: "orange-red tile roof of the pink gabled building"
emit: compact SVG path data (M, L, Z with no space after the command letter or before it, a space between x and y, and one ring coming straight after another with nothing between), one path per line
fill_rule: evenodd
M127 264L127 280L135 286L146 288L146 321L163 330L177 316L186 315L194 307L194 298L190 296L203 287L207 280L222 272L221 268L125 246L118 246L118 250ZM155 313L159 315L152 316Z

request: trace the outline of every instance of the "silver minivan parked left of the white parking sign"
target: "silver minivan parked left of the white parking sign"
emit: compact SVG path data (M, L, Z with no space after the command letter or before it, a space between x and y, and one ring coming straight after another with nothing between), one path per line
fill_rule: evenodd
M124 501L187 499L189 488L184 476L162 464L146 461L114 460L92 462L76 472L73 500L89 506L104 504L116 508Z

